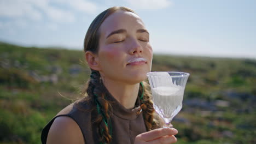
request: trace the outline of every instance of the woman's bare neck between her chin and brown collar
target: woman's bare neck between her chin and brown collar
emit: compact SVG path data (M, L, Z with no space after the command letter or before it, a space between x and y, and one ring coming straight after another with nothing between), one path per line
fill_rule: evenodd
M127 83L120 83L111 80L104 80L104 86L109 93L118 100L126 109L132 109L135 106L138 97L139 83L128 85Z

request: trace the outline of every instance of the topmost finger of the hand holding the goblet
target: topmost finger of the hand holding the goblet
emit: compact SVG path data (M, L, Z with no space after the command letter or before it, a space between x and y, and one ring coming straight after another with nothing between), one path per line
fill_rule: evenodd
M154 129L141 134L141 139L144 141L150 141L150 140L158 139L159 137L162 137L162 136L176 135L177 133L178 133L178 130L174 128L171 128L171 129L160 128L160 129Z

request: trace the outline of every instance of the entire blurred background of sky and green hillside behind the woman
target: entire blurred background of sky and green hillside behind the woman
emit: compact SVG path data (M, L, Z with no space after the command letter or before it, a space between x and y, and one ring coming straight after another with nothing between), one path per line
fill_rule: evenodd
M0 143L40 143L44 125L80 97L85 33L114 5L144 21L152 71L190 73L177 143L256 143L253 0L1 0Z

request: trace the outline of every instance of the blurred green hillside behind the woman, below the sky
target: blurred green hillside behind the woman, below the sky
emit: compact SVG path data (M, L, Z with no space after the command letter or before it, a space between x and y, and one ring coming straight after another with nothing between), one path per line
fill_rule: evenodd
M177 143L256 143L256 59L154 55L152 71L190 73ZM83 51L0 43L0 143L40 143L89 74Z

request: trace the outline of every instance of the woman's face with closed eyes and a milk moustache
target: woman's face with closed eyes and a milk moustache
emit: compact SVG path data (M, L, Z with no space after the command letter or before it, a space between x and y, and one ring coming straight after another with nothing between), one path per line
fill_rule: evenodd
M118 10L103 21L97 54L103 80L141 82L151 70L152 56L149 33L139 16Z

